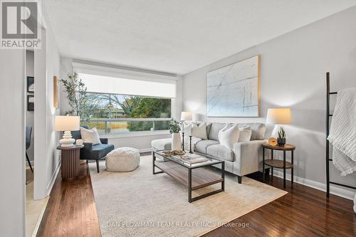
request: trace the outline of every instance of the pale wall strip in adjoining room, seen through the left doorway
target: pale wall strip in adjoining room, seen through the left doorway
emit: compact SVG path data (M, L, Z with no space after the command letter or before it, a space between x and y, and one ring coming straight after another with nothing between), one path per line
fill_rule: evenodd
M26 88L26 100L27 100L27 95L34 95L34 93L28 93L27 92L27 77L33 77L35 75L34 69L35 65L35 55L33 51L26 51L26 81L25 81L25 88ZM32 134L31 134L31 147L28 148L27 154L28 154L28 159L30 161L33 161L33 152L34 152L34 112L33 111L28 111L26 107L26 126L32 127Z

